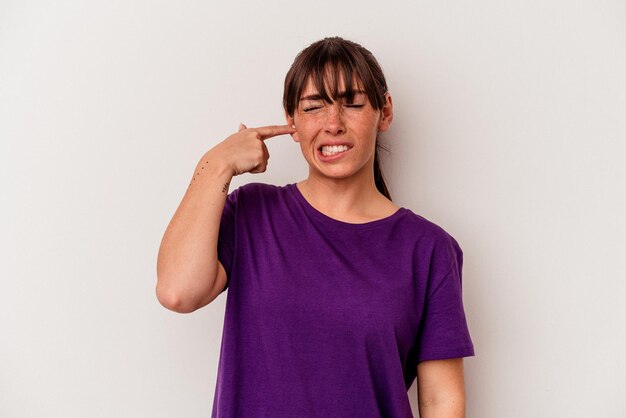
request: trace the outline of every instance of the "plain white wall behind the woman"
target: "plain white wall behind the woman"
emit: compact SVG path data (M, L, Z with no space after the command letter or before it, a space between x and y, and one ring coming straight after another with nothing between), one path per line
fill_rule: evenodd
M468 417L625 417L625 22L619 0L0 1L0 416L210 416L225 297L162 308L162 234L202 154L282 123L295 54L341 35L388 78L395 201L465 252ZM233 187L306 175L269 148Z

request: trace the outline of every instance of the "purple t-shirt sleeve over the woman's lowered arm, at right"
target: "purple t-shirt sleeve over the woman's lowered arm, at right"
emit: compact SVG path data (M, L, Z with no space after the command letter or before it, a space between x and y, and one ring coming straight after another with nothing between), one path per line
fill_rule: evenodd
M418 362L474 355L463 308L463 253L457 245L455 248L452 266L439 277L429 278L417 343Z

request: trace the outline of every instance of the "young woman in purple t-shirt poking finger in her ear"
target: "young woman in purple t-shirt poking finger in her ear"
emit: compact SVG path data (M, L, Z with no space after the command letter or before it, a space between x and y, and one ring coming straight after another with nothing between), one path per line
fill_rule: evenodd
M326 38L285 79L287 124L247 128L202 156L159 250L157 296L192 312L226 288L213 416L463 417L463 357L474 354L462 251L396 206L378 167L393 120L383 72L362 46ZM308 177L264 172L264 141L291 135Z

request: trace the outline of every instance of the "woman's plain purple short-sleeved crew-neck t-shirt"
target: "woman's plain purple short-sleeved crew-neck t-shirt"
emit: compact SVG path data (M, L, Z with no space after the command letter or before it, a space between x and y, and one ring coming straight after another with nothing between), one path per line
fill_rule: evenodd
M400 208L364 224L313 208L295 184L233 191L213 417L411 417L423 360L472 356L463 254Z

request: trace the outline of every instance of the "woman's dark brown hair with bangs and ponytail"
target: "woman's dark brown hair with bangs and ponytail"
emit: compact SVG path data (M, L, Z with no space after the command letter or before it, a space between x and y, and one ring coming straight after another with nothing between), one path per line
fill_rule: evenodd
M354 99L357 90L362 89L375 110L382 109L386 103L387 82L376 58L361 45L343 38L324 38L309 45L296 56L285 76L283 93L283 107L291 117L309 78L322 99L329 103L336 100L340 93L344 93L339 91L341 81L346 88L344 94L348 102ZM356 85L353 84L355 81ZM377 139L374 181L378 191L391 200L380 170L378 148L382 147Z

